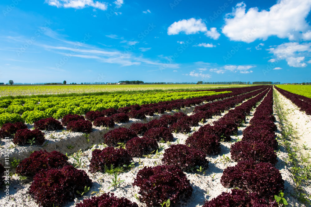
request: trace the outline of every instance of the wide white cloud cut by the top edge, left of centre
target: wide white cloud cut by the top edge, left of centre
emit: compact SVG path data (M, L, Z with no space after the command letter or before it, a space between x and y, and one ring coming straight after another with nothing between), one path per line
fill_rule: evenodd
M119 0L117 0L119 1ZM123 0L121 0L123 2ZM75 8L83 9L85 7L94 7L100 10L107 10L107 3L94 2L93 0L45 0L50 6L55 6L57 8Z

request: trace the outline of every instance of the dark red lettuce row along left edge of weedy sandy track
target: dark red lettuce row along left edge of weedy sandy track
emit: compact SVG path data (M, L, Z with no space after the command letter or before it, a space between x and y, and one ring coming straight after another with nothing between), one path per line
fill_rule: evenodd
M235 187L231 193L221 195L207 202L204 207L243 203L250 206L278 206L274 195L284 190L281 173L274 167L277 148L276 125L273 114L272 90L261 102L250 124L243 131L242 141L231 146L231 158L238 164L224 170L221 184ZM246 192L249 192L247 194ZM269 202L267 201L269 200Z

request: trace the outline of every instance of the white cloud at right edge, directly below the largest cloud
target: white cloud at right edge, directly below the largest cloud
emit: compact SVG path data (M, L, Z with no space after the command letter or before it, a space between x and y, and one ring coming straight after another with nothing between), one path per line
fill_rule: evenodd
M306 67L304 62L305 55L311 52L311 43L283 43L278 46L267 49L269 53L273 53L278 60L286 60L287 64L291 67ZM275 62L276 59L273 59ZM270 60L270 62L272 62Z

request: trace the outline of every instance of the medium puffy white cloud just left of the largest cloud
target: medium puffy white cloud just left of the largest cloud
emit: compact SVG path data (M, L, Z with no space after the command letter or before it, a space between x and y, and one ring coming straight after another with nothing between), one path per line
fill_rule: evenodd
M184 32L185 34L197 34L199 32L203 32L207 37L212 39L218 39L220 36L215 27L208 30L202 19L196 20L195 18L188 20L183 19L178 22L174 22L167 29L168 35L175 35L181 32Z

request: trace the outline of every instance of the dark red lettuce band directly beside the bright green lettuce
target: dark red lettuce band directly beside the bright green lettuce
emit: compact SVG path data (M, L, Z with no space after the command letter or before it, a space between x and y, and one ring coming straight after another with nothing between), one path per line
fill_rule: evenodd
M261 89L263 90L263 89ZM196 114L187 116L187 117L182 117L180 116L179 118L181 119L179 122L173 124L173 122L170 120L170 124L173 124L171 126L171 131L176 131L176 132L190 132L190 126L195 126L198 124L198 122L202 121L206 118L210 118L212 115L219 114L223 112L226 109L230 109L231 107L235 106L237 103L241 102L241 100L245 100L249 97L252 97L254 94L260 92L261 90L254 91L251 93L247 93L244 95L240 95L238 97L233 97L229 99L225 99L223 101L217 101L213 103L208 103L203 105L204 108L202 107L196 107L195 111ZM218 95L217 98L220 98ZM145 114L147 113L148 115L153 116L153 113L155 110L158 110L160 112L159 108L161 109L161 112L163 113L164 110L172 110L172 109L180 109L181 107L186 106L191 106L194 104L201 103L202 100L207 100L207 99L214 99L216 98L215 96L210 98L210 97L201 97L201 98L194 98L190 99L187 101L184 100L174 100L174 101L167 101L166 104L164 105L165 102L162 102L161 105L158 104L152 104L152 105L145 105L145 107L141 107L139 105L132 105L131 107L123 107L119 108L118 111L115 109L107 109L102 112L100 111L89 111L86 113L85 118L90 120L87 121L85 118L81 115L65 115L62 119L62 124L64 126L67 126L67 130L71 130L74 132L82 132L82 133L91 133L92 132L92 123L91 121L94 121L95 126L104 126L104 127L113 127L114 122L128 122L129 117L130 118L138 118L138 119L144 119L146 118ZM152 107L153 106L153 107ZM120 113L117 113L120 112ZM180 113L184 115L183 113ZM105 117L105 116L111 116L111 117ZM175 116L174 116L175 117ZM176 119L175 121L178 121ZM144 125L137 125L133 124L132 128L135 128L136 130L141 131L143 127L146 129L148 128L154 128L157 123L160 122L158 120L151 121L148 124ZM185 125L186 122L189 122L190 125ZM39 130L61 130L63 129L62 124L53 118L46 118L46 119L41 119L37 122L35 122L34 127L36 128L35 131L31 131L27 129L25 124L21 123L6 123L3 125L3 127L0 129L0 138L4 139L5 137L13 137L14 139L13 142L15 144L20 144L20 145L25 145L26 142L32 141L31 144L39 144L42 145L44 143L44 134L41 133ZM158 124L159 125L159 124ZM161 124L160 124L161 125ZM166 127L166 126L165 126ZM37 130L39 129L39 130Z

